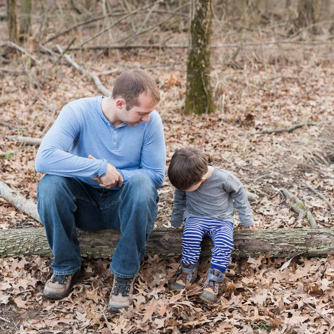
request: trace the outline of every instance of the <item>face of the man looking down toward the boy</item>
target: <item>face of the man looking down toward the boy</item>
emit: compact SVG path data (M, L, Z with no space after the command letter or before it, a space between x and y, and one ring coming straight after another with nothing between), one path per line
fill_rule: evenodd
M134 106L126 110L126 104L118 110L118 118L125 124L136 126L141 122L148 122L150 120L150 113L155 109L156 104L152 103L152 99L145 93L138 97L139 106Z

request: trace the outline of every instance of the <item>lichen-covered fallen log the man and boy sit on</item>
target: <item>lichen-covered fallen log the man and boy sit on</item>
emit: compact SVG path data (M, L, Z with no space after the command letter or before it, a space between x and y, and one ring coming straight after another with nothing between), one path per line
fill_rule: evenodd
M270 228L265 230L236 230L233 257L327 256L334 253L334 228ZM150 235L146 251L166 257L181 253L182 230L155 229ZM115 230L97 232L78 231L83 257L111 258L121 234ZM0 256L40 254L52 256L43 227L0 230ZM213 244L208 237L202 242L202 256L211 256Z

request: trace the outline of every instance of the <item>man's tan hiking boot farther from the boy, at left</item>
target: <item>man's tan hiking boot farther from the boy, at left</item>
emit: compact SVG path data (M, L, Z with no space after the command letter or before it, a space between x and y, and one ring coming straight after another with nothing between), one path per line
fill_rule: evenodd
M80 269L69 275L55 275L45 283L43 295L47 298L57 300L69 295L72 285L76 280L85 275L85 268L81 265Z

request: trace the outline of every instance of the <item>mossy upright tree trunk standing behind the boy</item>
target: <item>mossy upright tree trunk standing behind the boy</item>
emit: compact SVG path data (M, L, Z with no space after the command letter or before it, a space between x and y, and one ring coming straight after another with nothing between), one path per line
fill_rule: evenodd
M187 65L187 91L184 112L213 111L210 87L211 0L192 0Z

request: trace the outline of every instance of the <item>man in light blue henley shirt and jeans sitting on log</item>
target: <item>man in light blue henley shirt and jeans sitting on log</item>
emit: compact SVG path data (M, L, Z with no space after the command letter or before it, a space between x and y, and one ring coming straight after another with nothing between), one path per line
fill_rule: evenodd
M157 217L158 188L165 175L162 121L155 111L157 86L145 71L125 71L111 96L64 106L46 133L35 161L46 173L37 187L37 207L54 254L44 296L68 296L83 274L76 227L117 229L122 237L110 270L109 307L132 304L134 280Z

